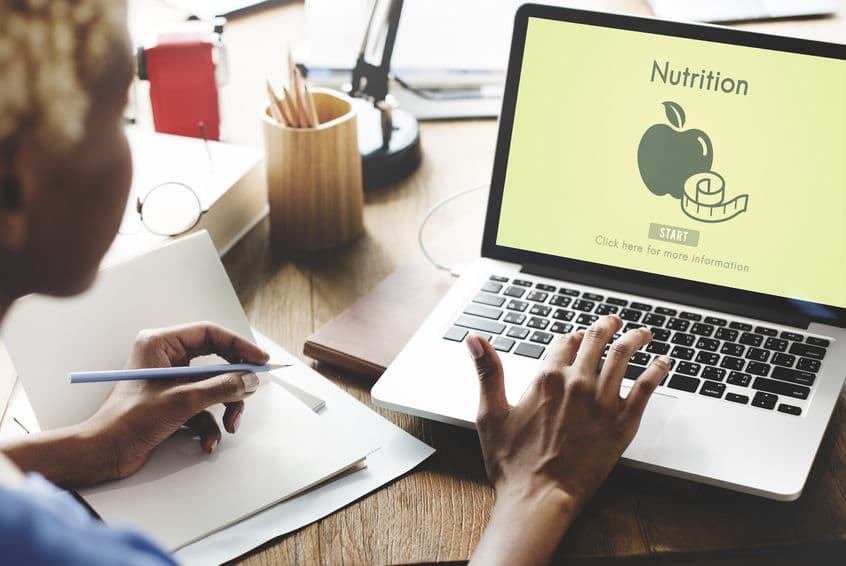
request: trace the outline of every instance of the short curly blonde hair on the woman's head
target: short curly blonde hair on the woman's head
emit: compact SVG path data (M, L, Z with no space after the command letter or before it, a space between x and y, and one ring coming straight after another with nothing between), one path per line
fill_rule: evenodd
M122 0L0 0L0 144L26 133L61 151L82 139L125 26Z

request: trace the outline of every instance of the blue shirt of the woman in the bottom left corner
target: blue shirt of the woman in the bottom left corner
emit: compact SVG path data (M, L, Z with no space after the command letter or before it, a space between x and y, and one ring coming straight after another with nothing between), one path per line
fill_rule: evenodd
M0 487L3 564L176 564L144 535L91 517L73 496L38 474Z

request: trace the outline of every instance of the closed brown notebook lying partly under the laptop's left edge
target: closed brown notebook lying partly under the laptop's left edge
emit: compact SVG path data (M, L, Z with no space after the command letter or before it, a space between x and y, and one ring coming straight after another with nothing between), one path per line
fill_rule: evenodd
M303 353L366 377L379 377L455 279L428 263L400 268L309 336Z

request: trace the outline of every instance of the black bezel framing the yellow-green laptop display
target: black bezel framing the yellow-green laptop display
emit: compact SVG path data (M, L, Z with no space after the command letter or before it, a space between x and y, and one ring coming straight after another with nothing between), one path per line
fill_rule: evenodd
M841 327L846 326L846 309L837 306L823 305L799 299L788 299L754 291L744 291L711 283L701 283L633 269L611 267L584 260L564 258L498 245L496 243L496 237L499 231L502 196L505 189L508 154L511 146L511 132L514 125L520 73L523 66L523 50L530 18L594 25L605 28L846 60L846 45L753 33L713 25L688 24L572 8L524 4L517 10L514 22L514 33L511 41L511 53L508 61L502 112L499 118L499 132L494 155L485 229L482 238L483 257L519 263L524 266L536 266L541 271L560 273L561 276L567 276L568 274L574 275L582 282L602 282L604 285L611 286L619 291L638 292L640 294L644 290L649 290L650 294L656 297L665 296L665 293L670 293L678 297L679 290L681 289L683 290L684 298L691 305L702 306L703 308L714 308L715 304L727 306L738 305L743 307L742 312L746 316L768 320L816 321ZM844 190L846 190L846 187L844 187Z

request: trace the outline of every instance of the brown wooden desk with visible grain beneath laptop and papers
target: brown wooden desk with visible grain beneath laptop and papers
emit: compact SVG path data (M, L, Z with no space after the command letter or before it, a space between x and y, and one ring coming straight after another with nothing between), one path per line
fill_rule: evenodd
M575 4L647 13L638 1ZM843 41L844 17L846 0L841 0L837 19L746 27ZM300 4L228 25L232 71L222 105L230 139L261 143L256 114L264 103L264 77L271 67L282 66L284 46L296 42L301 30ZM226 256L227 270L252 324L292 352L301 352L306 337L315 329L391 271L417 257L417 225L432 203L488 180L496 141L494 121L425 123L421 131L423 165L408 180L366 195L367 234L359 241L331 253L281 257L269 248L268 226L263 223ZM471 200L463 206L480 219L479 201L468 198ZM453 238L459 242L461 254L469 257L478 250L478 227L475 221L462 223L460 233ZM326 375L373 406L369 400L371 382ZM826 505L826 498L846 498L843 478L833 477L846 470L842 457L846 446L843 406L841 403L835 416L837 425L829 429L821 452L833 454L833 447L839 443L840 460L817 462L812 473L816 487L799 502L772 503L620 468L569 533L561 557L590 563L626 557L635 563L670 559L696 564L788 564L799 556L807 559L830 554L833 547L788 545L777 555L758 552L754 547L771 549L792 540L812 540L808 533L779 526L789 524L791 513L809 505L820 507L820 521L846 524L846 517L837 515L842 512L842 501L839 506ZM251 553L245 563L382 564L460 561L470 556L494 502L475 433L376 410L438 452L386 488ZM738 530L737 525L744 528ZM808 525L809 529L813 527ZM697 554L691 555L691 551ZM759 557L761 554L766 557Z

